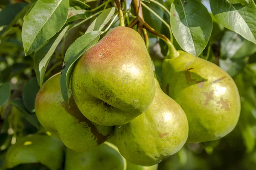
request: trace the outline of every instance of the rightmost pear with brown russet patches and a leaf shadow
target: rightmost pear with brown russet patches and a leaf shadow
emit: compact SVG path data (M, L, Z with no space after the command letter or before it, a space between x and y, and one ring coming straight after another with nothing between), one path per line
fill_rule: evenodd
M230 133L240 115L233 79L217 65L184 51L163 62L163 91L185 111L188 142L206 142Z

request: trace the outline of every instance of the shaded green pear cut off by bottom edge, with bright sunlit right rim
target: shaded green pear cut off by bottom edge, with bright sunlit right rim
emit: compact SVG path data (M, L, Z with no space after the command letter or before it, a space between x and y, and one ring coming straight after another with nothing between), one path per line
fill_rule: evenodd
M88 152L67 148L65 170L126 170L126 160L116 146L109 142Z

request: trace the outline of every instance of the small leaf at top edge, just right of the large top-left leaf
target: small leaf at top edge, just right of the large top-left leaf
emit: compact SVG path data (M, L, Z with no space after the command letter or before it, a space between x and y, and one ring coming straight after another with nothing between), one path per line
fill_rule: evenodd
M87 4L79 0L70 0L70 8L67 23L74 20L87 18L92 14L90 10L91 8Z

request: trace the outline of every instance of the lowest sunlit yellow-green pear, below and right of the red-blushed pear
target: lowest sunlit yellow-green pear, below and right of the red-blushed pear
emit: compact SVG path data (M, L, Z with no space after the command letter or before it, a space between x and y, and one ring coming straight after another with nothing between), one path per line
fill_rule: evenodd
M115 126L115 142L122 156L131 163L152 166L173 155L188 137L186 114L160 88L145 113L128 124Z

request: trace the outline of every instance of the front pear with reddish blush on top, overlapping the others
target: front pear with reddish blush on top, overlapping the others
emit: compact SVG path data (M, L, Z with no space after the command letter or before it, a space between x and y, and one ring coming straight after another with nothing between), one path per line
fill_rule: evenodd
M71 80L81 113L99 125L124 125L147 110L155 95L145 42L137 31L108 31L77 62Z

